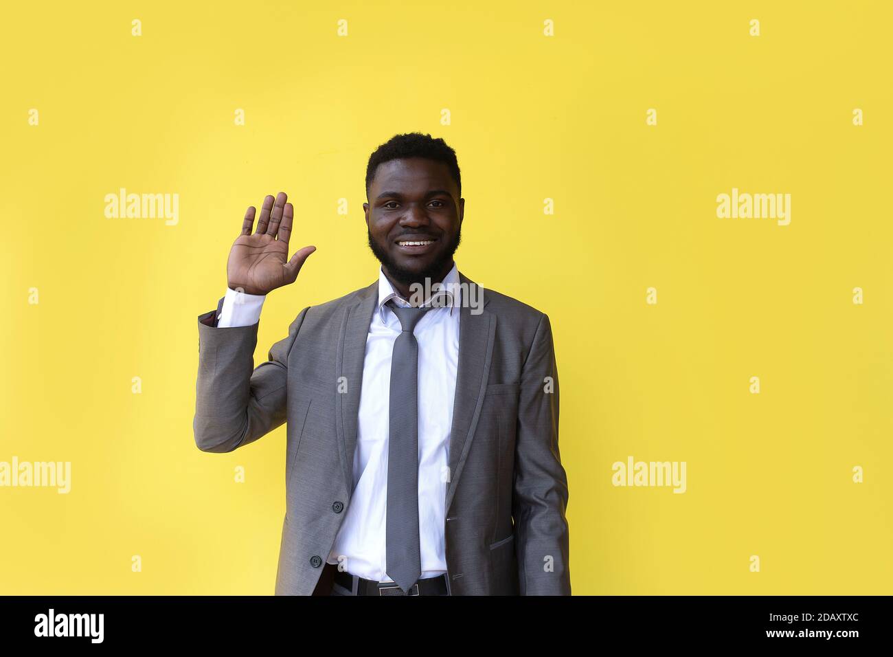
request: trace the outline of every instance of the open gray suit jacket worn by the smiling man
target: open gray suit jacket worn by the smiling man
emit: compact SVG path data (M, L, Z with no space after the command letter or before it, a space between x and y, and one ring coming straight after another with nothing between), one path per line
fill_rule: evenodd
M483 312L462 307L459 319L445 484L450 593L569 595L568 487L549 319L498 292L482 295ZM320 576L353 493L363 358L377 301L376 281L305 307L256 367L259 324L217 328L216 311L198 316L198 448L233 451L287 423L277 595L329 593Z

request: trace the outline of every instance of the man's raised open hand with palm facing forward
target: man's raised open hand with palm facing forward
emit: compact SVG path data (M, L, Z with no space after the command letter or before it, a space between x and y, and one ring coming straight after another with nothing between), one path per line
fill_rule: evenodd
M246 294L267 294L283 285L295 282L301 266L316 247L308 246L296 250L288 258L288 238L295 217L295 208L286 203L284 191L276 196L263 199L261 216L257 230L252 234L255 223L255 206L250 206L242 222L242 234L230 248L226 273L230 289Z

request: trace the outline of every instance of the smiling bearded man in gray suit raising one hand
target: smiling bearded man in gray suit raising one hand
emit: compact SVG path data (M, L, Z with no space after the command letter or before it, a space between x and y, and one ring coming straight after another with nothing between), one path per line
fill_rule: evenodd
M305 307L254 369L263 299L315 247L288 257L284 193L254 233L248 208L230 289L198 317L198 448L287 423L276 594L570 594L548 317L457 270L465 199L443 139L381 145L366 195L379 280Z

